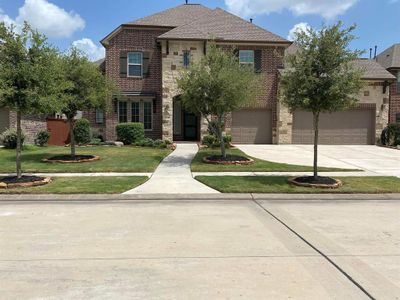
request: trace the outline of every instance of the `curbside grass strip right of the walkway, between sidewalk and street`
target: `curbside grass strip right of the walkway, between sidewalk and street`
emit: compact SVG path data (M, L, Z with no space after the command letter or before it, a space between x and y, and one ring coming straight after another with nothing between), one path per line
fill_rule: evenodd
M381 194L400 193L400 178L397 177L338 177L343 182L339 189L317 189L298 187L288 183L284 176L198 176L196 179L222 193L287 193L287 194Z

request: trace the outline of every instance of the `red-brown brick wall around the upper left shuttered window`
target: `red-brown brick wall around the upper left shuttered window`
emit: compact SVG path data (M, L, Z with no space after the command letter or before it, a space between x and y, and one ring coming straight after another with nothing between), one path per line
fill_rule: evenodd
M158 47L156 38L166 30L152 29L123 29L113 39L106 49L106 75L113 79L121 91L142 91L156 93L153 109L153 130L146 131L151 138L162 136L162 63L161 48ZM146 78L121 78L120 53L121 51L150 52L149 76ZM129 100L129 99L128 99ZM114 105L112 105L114 107ZM89 116L93 120L93 115ZM92 122L92 124L95 124ZM117 114L114 109L106 115L105 135L107 140L115 140L115 126L118 124Z

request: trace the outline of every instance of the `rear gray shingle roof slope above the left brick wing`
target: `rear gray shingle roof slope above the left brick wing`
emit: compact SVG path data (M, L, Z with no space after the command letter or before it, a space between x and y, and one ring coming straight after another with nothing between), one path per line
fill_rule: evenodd
M204 16L212 10L201 4L182 4L127 24L140 26L178 27Z

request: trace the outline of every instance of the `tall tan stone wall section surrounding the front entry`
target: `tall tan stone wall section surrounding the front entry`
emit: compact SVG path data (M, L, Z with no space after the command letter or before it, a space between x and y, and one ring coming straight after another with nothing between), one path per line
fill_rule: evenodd
M167 49L168 45L168 49ZM190 61L198 61L204 55L204 42L162 42L162 138L173 140L173 101L179 95L177 78L183 69L183 52L190 51ZM203 131L204 120L201 121Z

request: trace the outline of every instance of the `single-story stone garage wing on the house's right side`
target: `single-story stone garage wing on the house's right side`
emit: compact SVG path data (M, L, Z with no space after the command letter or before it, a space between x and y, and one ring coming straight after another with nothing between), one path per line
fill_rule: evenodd
M294 54L296 45L290 46L288 53ZM382 130L389 122L390 86L395 77L375 60L358 59L354 68L363 72L363 89L356 95L357 103L351 109L320 116L320 144L325 145L371 145L380 140ZM280 74L285 69L279 70ZM278 103L279 144L313 144L312 113L295 111Z

